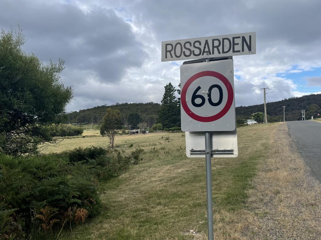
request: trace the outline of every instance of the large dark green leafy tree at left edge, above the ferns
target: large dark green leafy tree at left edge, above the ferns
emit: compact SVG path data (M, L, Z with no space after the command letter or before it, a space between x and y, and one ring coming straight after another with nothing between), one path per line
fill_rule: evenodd
M52 141L46 126L59 123L72 99L72 88L60 81L64 61L44 65L22 51L21 31L0 34L0 152L36 153Z

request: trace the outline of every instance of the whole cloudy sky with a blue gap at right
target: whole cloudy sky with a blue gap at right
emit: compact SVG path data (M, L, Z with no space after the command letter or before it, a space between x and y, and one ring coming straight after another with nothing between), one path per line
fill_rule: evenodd
M0 28L18 25L23 49L65 60L68 111L158 102L182 61L161 62L161 41L256 32L256 55L235 56L237 106L321 92L321 1L1 0Z

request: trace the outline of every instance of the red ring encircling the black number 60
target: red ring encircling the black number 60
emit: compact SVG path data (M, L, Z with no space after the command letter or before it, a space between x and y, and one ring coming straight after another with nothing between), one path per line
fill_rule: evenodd
M225 87L227 89L227 101L226 101L224 108L218 114L215 114L213 116L208 116L208 117L199 116L199 115L193 113L192 110L187 106L187 102L186 102L186 92L187 92L188 87L196 79L198 79L200 77L204 77L204 76L212 76L212 77L218 78L219 80L221 80L221 82L225 85ZM214 72L214 71L203 71L203 72L199 72L199 73L194 74L193 76L191 76L187 80L187 82L184 84L182 91L181 91L181 104L182 104L184 111L187 113L188 116L195 119L196 121L205 122L205 123L213 122L215 120L220 119L222 116L224 116L230 110L232 103L233 103L233 98L234 98L234 92L233 92L233 88L232 88L232 85L229 82L229 80L224 75L222 75L218 72Z

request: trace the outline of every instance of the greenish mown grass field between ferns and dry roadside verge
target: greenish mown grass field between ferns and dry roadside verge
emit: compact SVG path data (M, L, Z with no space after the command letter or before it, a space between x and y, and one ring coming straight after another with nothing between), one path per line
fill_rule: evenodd
M265 158L276 124L238 129L239 157L212 158L216 239L232 239L247 209L247 189ZM162 138L164 137L164 138ZM164 140L169 137L169 140ZM65 140L49 150L77 146L107 147L102 137ZM142 163L120 177L101 183L102 214L60 239L207 239L204 158L187 158L182 133L117 136L121 149L144 148ZM83 145L82 145L83 144ZM196 236L185 234L198 230ZM194 238L198 237L198 238ZM237 238L235 238L237 239Z

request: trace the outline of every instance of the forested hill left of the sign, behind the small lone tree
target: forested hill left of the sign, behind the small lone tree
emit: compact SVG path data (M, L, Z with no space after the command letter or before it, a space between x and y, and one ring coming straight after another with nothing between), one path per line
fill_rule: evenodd
M135 117L135 124L137 122L144 122L152 126L156 119L157 113L160 108L160 104L148 102L148 103L116 103L111 106L102 105L94 108L88 108L79 110L79 112L71 112L67 114L67 123L81 123L81 124L100 124L101 119L105 116L107 108L118 109L122 115L123 125L129 125L128 117ZM141 119L137 119L137 114Z

